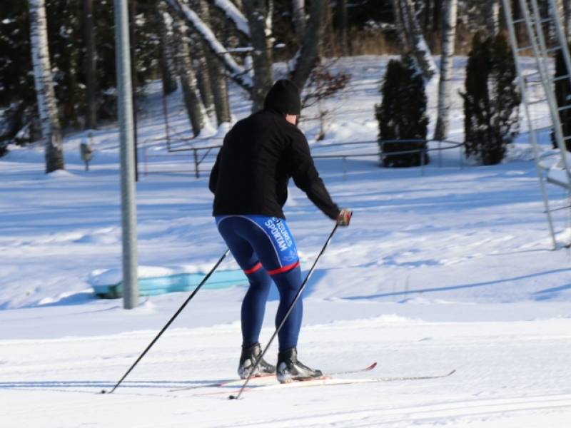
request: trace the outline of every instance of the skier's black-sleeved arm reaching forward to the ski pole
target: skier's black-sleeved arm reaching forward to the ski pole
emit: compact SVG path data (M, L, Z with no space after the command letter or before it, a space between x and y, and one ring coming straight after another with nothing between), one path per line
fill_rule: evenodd
M290 147L290 175L298 188L303 190L311 202L323 211L325 215L337 220L340 213L339 207L331 200L331 197L321 180L305 136L298 134Z

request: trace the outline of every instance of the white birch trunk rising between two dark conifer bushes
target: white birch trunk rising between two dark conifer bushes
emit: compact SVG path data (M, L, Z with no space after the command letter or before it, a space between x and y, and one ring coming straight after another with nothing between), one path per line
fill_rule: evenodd
M445 0L442 33L442 54L440 56L440 81L438 83L438 118L434 131L435 140L448 136L450 119L450 78L453 73L454 43L456 39L456 18L458 0Z

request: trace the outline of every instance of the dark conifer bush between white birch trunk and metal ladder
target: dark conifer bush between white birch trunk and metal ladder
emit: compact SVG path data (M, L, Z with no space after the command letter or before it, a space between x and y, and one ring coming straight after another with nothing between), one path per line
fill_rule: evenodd
M482 165L500 163L517 131L521 101L505 34L474 36L466 66L465 155Z

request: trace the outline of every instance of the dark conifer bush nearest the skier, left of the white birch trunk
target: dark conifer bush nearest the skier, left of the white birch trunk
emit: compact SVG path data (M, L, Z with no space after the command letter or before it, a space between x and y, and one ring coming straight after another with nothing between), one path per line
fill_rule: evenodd
M426 93L423 77L413 66L410 58L388 63L380 89L383 100L375 105L375 116L379 123L378 142L381 162L385 167L410 167L428 163L426 133ZM386 140L421 140L412 142L390 142ZM412 151L391 155L393 152Z

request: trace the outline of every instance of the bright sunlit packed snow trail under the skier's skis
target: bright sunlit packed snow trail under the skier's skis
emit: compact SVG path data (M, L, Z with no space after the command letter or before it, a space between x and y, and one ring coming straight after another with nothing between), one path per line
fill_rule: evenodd
M481 317L487 309L479 308ZM419 307L421 316L424 311ZM172 427L448 423L492 428L515 427L522 420L527 424L520 427L545 426L545 420L550 427L565 427L571 416L570 327L571 319L426 322L398 316L308 325L300 349L323 370L347 367L359 355L380 357L382 369L376 370L383 377L438 373L443 365L458 372L415 382L268 389L239 402L229 401L228 391L169 391L235 376L237 323L170 330L131 380L109 396L97 392L113 384L153 332L3 340L0 349L10 352L1 357L0 418L6 427L18 426L24 415L31 426L41 427L152 427L165 420ZM263 331L263 337L270 334L271 328Z

